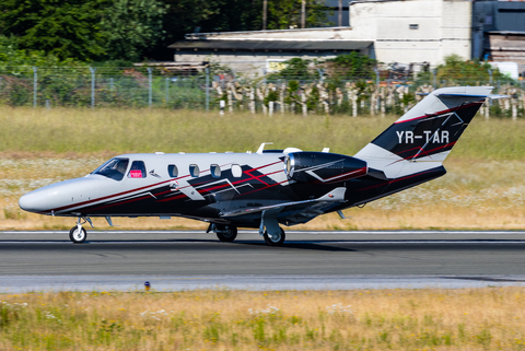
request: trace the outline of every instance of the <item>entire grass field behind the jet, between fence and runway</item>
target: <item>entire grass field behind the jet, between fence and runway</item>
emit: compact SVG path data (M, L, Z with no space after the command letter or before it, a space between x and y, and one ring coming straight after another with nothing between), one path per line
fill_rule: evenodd
M0 108L0 230L69 230L71 219L28 214L23 194L79 177L125 152L208 152L273 148L331 148L353 154L395 117L250 114L150 109ZM335 214L298 230L525 229L525 120L479 116L445 162L448 174L408 191ZM119 229L198 229L173 219L116 219ZM104 220L95 220L107 229Z

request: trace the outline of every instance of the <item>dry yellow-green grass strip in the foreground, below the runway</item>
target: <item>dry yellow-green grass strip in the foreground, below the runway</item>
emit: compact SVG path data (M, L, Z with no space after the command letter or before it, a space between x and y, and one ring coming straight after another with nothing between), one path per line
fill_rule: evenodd
M0 295L1 350L524 350L525 290Z

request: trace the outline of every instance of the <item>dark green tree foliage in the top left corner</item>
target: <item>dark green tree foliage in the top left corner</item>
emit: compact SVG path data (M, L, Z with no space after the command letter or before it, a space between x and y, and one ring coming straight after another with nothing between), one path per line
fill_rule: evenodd
M104 55L101 19L109 0L3 0L0 33L21 49L60 59L93 60Z

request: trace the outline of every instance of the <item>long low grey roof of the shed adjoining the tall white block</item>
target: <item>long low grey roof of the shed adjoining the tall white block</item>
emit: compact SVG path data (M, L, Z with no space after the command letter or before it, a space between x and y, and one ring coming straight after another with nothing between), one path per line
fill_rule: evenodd
M223 49L223 50L362 50L371 46L368 40L280 40L280 39L199 39L180 40L171 49Z

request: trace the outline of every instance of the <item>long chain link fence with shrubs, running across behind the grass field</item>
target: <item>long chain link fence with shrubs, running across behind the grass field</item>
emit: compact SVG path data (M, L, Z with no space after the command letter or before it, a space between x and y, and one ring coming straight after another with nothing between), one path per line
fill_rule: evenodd
M434 89L493 85L509 98L488 102L486 117L525 117L525 84L510 79L472 81L436 79L430 72L399 79L376 71L373 77L245 78L233 71L205 69L177 74L159 68L0 69L0 105L24 107L153 107L218 109L221 113L402 114Z

